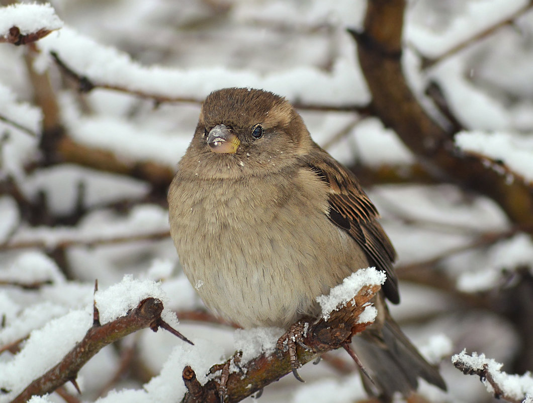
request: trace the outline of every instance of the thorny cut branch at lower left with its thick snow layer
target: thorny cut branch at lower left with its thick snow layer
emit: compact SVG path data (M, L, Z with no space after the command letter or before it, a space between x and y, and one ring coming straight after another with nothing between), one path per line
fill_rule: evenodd
M192 344L172 327L177 319L164 309L164 300L160 286L151 280L126 276L103 292L96 286L92 315L89 309L74 310L52 320L32 332L11 361L0 364L0 387L7 391L0 401L22 403L66 382L78 389L77 374L89 359L104 346L140 329L149 327L157 332L163 328ZM42 354L43 350L47 353Z

